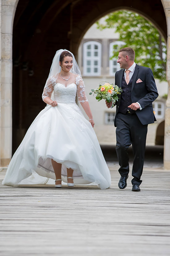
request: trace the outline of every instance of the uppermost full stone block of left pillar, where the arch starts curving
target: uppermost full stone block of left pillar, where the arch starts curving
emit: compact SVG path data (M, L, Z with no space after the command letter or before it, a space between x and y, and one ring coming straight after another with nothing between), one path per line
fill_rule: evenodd
M2 17L1 32L2 33L12 34L15 10L16 9L14 6L7 6L7 5L2 6L2 10L1 10L1 17Z

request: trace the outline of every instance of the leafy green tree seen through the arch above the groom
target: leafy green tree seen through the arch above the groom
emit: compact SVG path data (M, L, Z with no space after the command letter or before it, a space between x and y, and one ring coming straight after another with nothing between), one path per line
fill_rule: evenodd
M148 20L131 11L116 11L107 16L104 24L97 22L97 28L114 28L119 40L135 51L135 62L150 67L154 77L166 80L166 43L158 30ZM113 47L113 56L117 58L118 46Z

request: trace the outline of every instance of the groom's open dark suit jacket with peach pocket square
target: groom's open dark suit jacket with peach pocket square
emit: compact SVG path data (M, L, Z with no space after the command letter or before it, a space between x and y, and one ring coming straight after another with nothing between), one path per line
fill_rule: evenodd
M115 84L119 87L122 86L124 72L125 69L122 69L117 71L115 74ZM138 79L141 79L142 82L136 83ZM136 64L132 82L131 100L132 103L138 102L142 107L142 110L136 110L136 115L143 125L152 124L156 121L153 113L152 102L155 101L157 97L158 91L152 70ZM119 111L120 102L121 95L119 95L119 100L116 102L116 115Z

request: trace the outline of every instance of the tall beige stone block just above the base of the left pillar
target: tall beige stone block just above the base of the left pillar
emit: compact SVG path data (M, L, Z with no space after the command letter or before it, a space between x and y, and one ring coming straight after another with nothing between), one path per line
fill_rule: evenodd
M1 127L1 159L10 159L12 155L12 127Z

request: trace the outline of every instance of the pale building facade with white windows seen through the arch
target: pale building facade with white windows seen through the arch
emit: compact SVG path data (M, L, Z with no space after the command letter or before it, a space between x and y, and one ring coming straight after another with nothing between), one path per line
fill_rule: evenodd
M100 23L104 22L104 18ZM115 73L120 70L117 58L110 60L113 55L113 46L116 44L122 48L124 42L118 40L119 35L114 29L97 29L94 24L84 35L79 46L78 61L81 67L81 73L86 85L86 94L95 120L95 132L100 144L116 144L116 135L114 127L114 117L116 107L112 109L106 108L104 100L98 102L95 97L89 95L91 89L95 89L97 85L106 81L114 83ZM147 145L155 145L157 127L165 118L164 95L168 94L168 83L155 80L159 97L153 103L155 117L157 122L148 126ZM103 82L104 83L104 82ZM86 115L84 113L84 115ZM88 117L87 117L88 118ZM163 128L164 129L164 128ZM162 129L162 134L164 130ZM157 141L157 144L163 144L163 141Z

